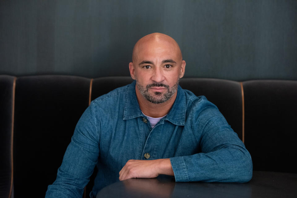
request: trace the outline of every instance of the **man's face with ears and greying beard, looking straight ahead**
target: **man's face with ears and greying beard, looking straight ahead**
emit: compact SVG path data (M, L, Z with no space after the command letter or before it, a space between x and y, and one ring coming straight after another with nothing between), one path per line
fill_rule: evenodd
M149 102L164 103L176 93L185 66L179 52L179 48L166 41L138 46L130 73L137 89Z

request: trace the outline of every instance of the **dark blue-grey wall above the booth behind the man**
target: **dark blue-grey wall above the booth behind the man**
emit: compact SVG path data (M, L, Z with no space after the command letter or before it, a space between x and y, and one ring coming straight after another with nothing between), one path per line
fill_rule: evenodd
M185 77L297 80L296 0L0 0L0 74L129 75L133 45L162 32Z

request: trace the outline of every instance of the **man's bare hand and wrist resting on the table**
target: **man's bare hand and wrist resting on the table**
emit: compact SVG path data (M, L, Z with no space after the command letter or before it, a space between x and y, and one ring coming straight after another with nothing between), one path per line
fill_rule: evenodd
M129 160L119 172L119 180L130 178L154 178L158 175L172 175L170 159Z

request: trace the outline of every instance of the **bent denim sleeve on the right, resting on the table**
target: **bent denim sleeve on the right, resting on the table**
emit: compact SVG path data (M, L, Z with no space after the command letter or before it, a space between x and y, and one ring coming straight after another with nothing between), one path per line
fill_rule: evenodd
M214 105L213 105L214 106ZM194 138L201 153L170 158L177 182L248 182L252 158L217 108L192 116Z

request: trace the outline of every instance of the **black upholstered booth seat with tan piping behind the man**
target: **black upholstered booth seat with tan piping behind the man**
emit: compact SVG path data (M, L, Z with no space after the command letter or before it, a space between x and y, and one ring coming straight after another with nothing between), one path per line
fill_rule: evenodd
M0 195L44 197L91 100L130 77L0 75ZM182 78L217 105L252 155L254 170L297 173L297 81ZM86 187L87 195L92 180Z

